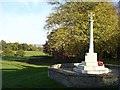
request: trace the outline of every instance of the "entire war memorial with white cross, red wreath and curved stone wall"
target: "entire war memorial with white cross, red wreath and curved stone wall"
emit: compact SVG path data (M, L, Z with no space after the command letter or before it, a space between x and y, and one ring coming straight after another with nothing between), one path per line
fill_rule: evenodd
M93 43L93 16L90 17L90 41L89 52L85 53L85 61L81 63L63 63L52 65L48 70L48 76L67 87L98 88L118 86L118 69L105 67L102 61L98 61L94 52Z

